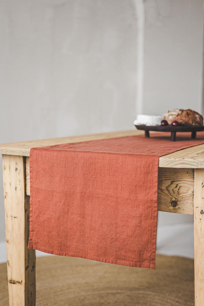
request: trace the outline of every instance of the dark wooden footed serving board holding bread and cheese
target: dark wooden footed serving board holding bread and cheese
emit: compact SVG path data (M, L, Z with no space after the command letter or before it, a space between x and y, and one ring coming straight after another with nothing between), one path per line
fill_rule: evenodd
M135 125L136 129L144 130L145 136L150 137L149 131L157 131L157 132L171 132L171 141L176 140L176 132L191 132L191 138L196 138L196 132L204 131L204 125Z

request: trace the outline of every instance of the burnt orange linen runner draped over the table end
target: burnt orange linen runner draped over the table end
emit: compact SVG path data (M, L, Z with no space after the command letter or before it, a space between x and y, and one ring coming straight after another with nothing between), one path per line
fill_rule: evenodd
M28 248L154 268L159 156L204 143L169 135L32 148Z

